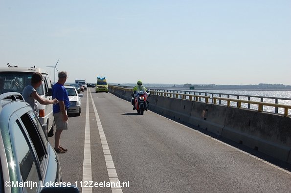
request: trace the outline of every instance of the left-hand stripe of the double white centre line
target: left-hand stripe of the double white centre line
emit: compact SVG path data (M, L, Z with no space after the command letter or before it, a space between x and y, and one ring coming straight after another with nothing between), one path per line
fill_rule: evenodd
M92 181L91 166L91 142L90 142L90 119L89 119L89 94L87 93L86 103L86 122L85 122L85 140L84 140L84 159L83 159L83 182ZM92 193L91 187L82 187L82 193Z

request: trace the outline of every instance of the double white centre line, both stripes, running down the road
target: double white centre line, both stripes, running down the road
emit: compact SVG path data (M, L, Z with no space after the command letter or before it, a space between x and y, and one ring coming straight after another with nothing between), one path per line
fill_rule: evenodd
M119 182L115 166L112 160L111 152L108 147L108 143L106 140L106 136L104 134L102 124L96 109L96 106L94 104L92 94L90 89L88 89L88 92L90 93L90 99L92 101L95 118L97 122L97 127L99 130L99 135L101 139L103 154L106 162L106 168L109 176L110 183L116 184ZM84 140L84 161L83 161L83 182L84 181L92 181L92 166L91 166L91 142L90 142L90 118L89 118L89 93L87 92L87 103L86 103L86 123L85 123L85 140ZM121 187L111 188L112 193L122 193ZM91 187L84 187L82 188L82 193L92 193Z

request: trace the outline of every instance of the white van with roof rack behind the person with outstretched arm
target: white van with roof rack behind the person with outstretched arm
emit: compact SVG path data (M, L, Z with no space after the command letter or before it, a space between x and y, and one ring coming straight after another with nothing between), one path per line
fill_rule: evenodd
M47 100L52 100L51 96L51 83L48 78L48 73L44 69L35 67L17 67L10 66L0 68L0 94L5 92L19 92L22 94L22 90L25 86L31 84L31 76L34 72L39 72L43 75L44 81L42 85L37 89L37 93ZM53 136L54 117L52 112L53 105L41 105L38 102L39 119L48 137Z

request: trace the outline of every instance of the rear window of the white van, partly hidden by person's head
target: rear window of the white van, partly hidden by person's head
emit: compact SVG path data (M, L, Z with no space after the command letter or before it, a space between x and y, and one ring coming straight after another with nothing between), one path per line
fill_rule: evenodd
M19 92L31 84L32 73L29 72L0 72L0 94L6 92ZM43 84L43 83L42 83ZM39 95L44 95L44 86L36 89Z

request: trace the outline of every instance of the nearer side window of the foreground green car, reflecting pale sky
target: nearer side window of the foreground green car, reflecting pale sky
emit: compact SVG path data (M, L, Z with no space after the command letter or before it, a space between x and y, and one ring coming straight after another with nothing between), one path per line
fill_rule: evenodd
M16 151L17 164L19 164L22 182L39 183L40 178L38 174L38 168L35 163L35 158L33 156L33 150L27 143L27 138L25 138L25 132L22 132L21 124L16 121L13 127L13 143ZM24 187L27 193L35 193L37 186ZM24 191L25 191L24 190Z

